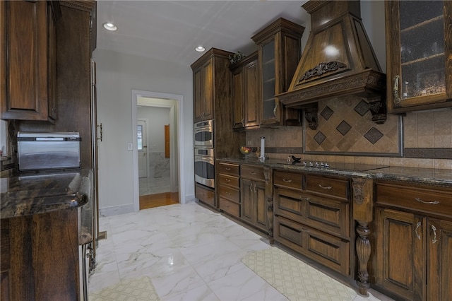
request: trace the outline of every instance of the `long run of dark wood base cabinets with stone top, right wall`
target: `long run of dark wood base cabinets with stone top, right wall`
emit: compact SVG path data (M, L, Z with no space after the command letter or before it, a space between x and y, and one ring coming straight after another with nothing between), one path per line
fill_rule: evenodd
M246 157L222 158L218 163L220 211L251 228L263 229L270 243L278 242L356 280L362 295L367 295L372 285L396 298L431 300L425 297L427 285L422 284L427 281L439 283L434 288L440 294L452 294L447 291L450 285L441 285L452 279L451 272L441 269L441 258L452 255L448 247L452 241L451 170ZM237 171L232 174L227 169ZM260 173L257 181L250 182ZM265 189L259 189L259 182ZM223 208L222 203L226 204ZM395 210L423 220L397 220ZM408 233L408 238L417 237L424 244L431 236L434 248L429 252L408 249L408 254L394 257L396 249L407 249L399 242L411 245L403 234L386 239L393 232L388 225L396 229L402 223L406 228L399 227L399 233ZM388 248L392 248L391 254ZM428 254L436 257L427 260ZM401 270L406 278L396 275Z

